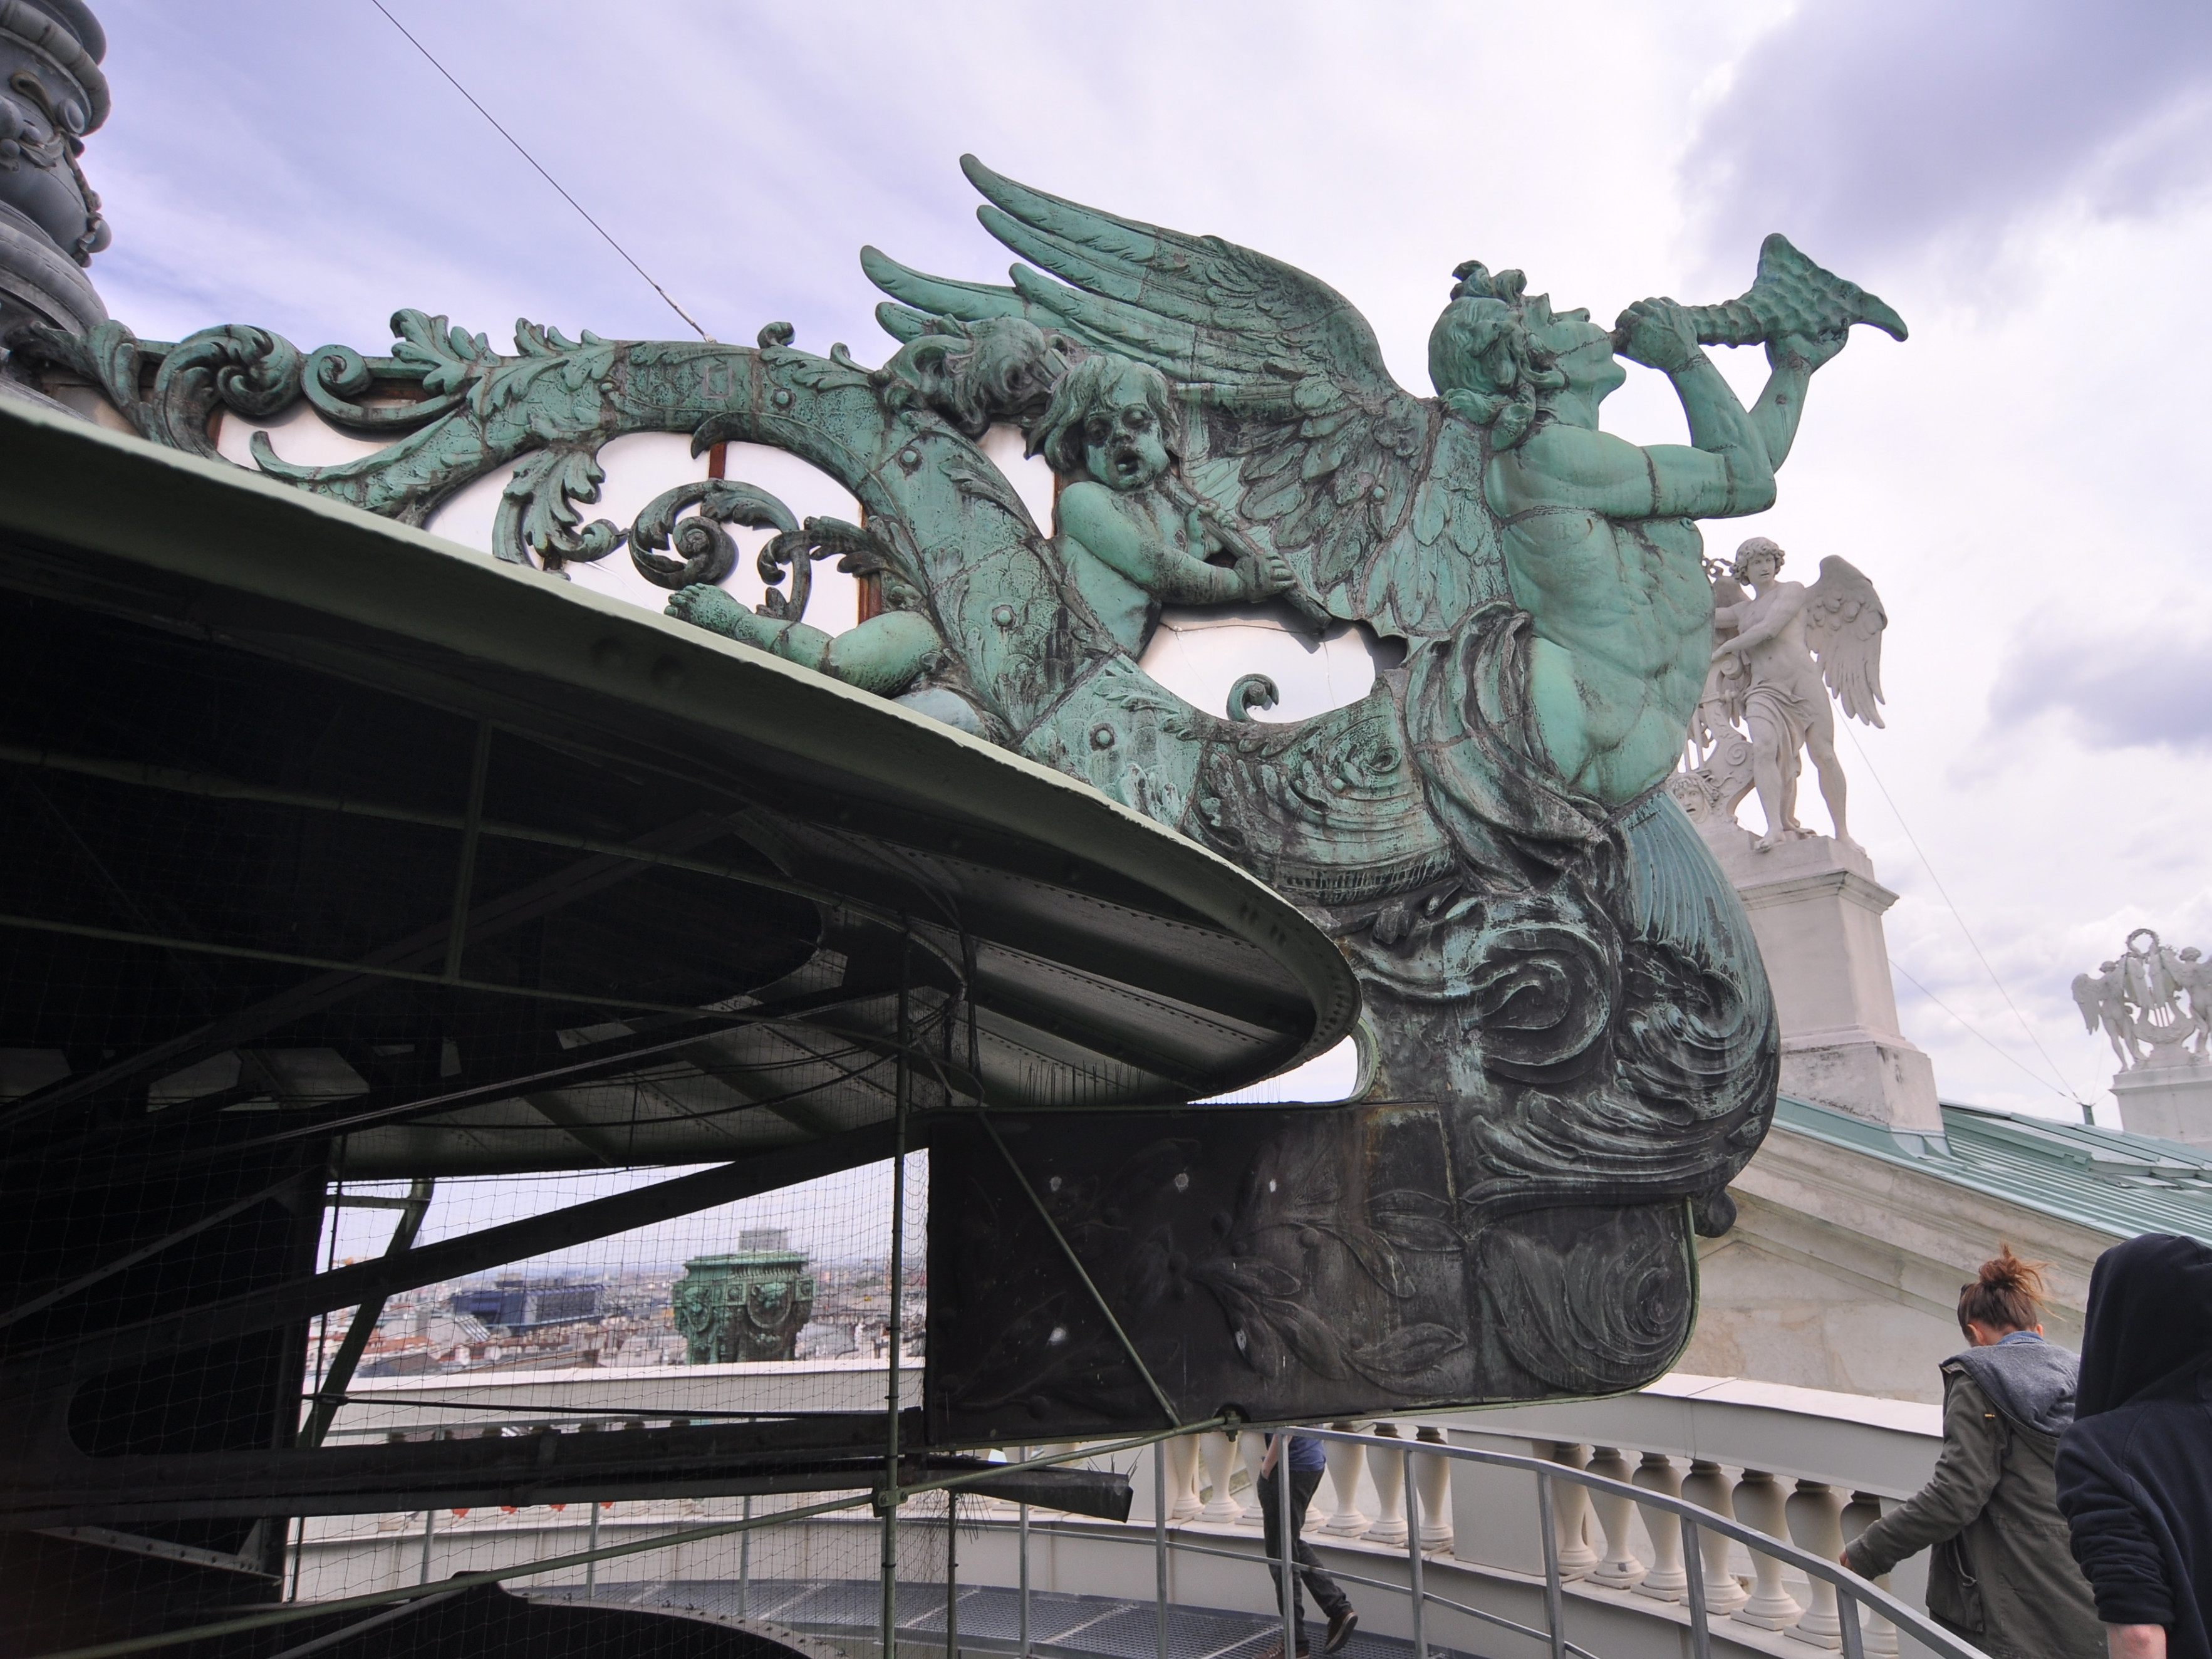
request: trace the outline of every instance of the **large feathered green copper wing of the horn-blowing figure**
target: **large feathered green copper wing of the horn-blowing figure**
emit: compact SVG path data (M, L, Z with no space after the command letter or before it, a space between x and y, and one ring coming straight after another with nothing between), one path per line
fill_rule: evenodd
M865 248L867 276L902 301L876 307L885 330L907 341L931 314L1026 316L1150 363L1203 414L1203 456L1186 462L1192 482L1283 553L1332 615L1433 635L1504 591L1480 469L1471 489L1453 487L1453 469L1431 480L1442 411L1391 380L1343 294L1219 237L1031 190L973 155L960 168L989 197L984 228L1035 270L1015 265L1013 288L993 288ZM1438 549L1447 535L1451 546Z

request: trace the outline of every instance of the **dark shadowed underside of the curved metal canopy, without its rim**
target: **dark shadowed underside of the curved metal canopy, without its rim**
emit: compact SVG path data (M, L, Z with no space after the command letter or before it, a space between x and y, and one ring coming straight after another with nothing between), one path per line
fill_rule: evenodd
M349 1177L743 1157L918 1106L1192 1099L1314 1013L1106 872L529 688L11 595L0 1137L343 1137Z

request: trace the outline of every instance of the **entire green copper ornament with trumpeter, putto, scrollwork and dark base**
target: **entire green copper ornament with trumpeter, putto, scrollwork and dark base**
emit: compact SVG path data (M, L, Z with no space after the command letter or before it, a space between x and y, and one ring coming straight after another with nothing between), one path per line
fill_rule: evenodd
M938 1433L1652 1378L1688 1338L1690 1230L1728 1225L1778 1064L1745 916L1666 790L1712 655L1697 520L1772 504L1812 374L1854 323L1902 321L1781 237L1741 299L1641 301L1615 330L1467 263L1431 334L1436 396L1416 398L1321 281L964 166L1031 263L993 288L865 252L902 341L878 369L785 325L759 347L518 325L500 356L420 312L378 361L243 327L18 349L201 453L217 403L305 396L392 442L338 467L257 442L259 465L409 522L513 467L502 557L557 568L626 542L675 615L1086 779L1340 942L1367 995L1352 1106L1104 1121L980 1102L933 1126ZM1750 409L1717 343L1765 345ZM1668 374L1690 445L1599 429L1621 358ZM1053 467L1053 526L987 458L1000 422ZM595 453L628 431L785 449L865 526L801 524L741 480L586 524ZM723 524L776 531L761 611L717 586ZM874 575L885 611L807 626L818 557ZM1396 666L1287 723L1250 719L1259 677L1212 712L1139 666L1161 604L1254 599L1360 622Z

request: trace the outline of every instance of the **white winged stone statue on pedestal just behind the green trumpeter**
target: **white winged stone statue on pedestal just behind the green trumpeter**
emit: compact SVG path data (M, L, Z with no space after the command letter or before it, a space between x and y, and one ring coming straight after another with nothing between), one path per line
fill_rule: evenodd
M1812 754L1836 841L1851 843L1836 759L1834 692L1843 712L1882 723L1882 628L1889 615L1854 564L1820 560L1812 586L1783 582L1783 551L1765 535L1714 571L1712 672L1690 723L1694 765L1674 779L1692 818L1734 814L1752 790L1767 814L1756 849L1809 836L1796 818L1801 754Z

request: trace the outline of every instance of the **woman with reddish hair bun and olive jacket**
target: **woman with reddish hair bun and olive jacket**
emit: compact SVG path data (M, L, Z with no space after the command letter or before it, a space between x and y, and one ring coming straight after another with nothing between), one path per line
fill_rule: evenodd
M1843 1553L1878 1577L1916 1551L1929 1615L1991 1659L2104 1659L2104 1626L2057 1506L2059 1436L2075 1416L2079 1360L2044 1340L2042 1263L2011 1245L1958 1292L1971 1347L1942 1363L1942 1453L1913 1498Z

